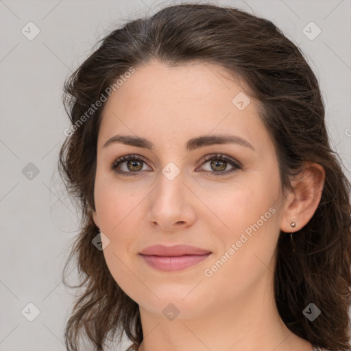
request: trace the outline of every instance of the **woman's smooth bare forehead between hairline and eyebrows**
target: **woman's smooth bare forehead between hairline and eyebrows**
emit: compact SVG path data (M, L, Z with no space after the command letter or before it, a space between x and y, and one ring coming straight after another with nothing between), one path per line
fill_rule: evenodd
M254 101L216 64L169 66L152 61L136 67L105 104L100 146L117 132L143 136L156 146L230 132L255 149L270 143Z

